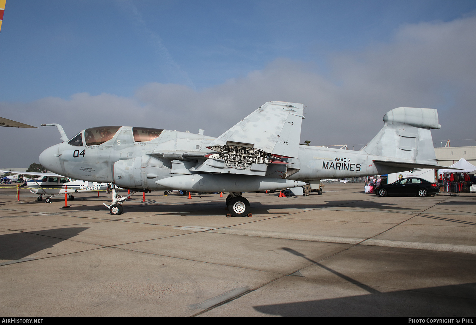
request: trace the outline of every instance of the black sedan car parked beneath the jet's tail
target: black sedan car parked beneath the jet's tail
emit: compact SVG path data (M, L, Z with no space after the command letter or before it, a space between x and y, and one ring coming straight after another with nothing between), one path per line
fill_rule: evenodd
M391 184L379 185L375 188L374 193L378 196L417 195L424 198L427 195L434 195L439 191L438 184L428 182L421 178L411 177L402 178Z

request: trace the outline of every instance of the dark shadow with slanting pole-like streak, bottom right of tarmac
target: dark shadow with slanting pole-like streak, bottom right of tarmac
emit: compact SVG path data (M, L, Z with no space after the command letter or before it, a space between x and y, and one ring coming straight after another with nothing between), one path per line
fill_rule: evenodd
M367 295L310 300L286 304L254 306L268 315L281 316L475 316L476 283L379 292L347 277L304 254L287 247L283 250L305 258L343 280L368 292Z

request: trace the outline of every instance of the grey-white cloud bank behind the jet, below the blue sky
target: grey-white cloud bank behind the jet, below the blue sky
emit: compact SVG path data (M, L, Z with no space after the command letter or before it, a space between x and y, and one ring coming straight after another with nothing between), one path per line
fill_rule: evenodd
M476 17L406 25L387 44L337 53L327 75L312 63L278 58L263 70L202 92L150 83L132 98L80 93L69 100L0 103L0 116L28 124L60 123L69 136L99 125L202 128L218 136L266 101L283 100L307 106L301 139L314 145L367 143L381 128L382 116L399 106L438 108L442 130L433 131L434 140L474 138L474 35ZM54 128L0 128L0 133L10 139L2 150L15 153L2 155L4 167L37 162L59 138Z

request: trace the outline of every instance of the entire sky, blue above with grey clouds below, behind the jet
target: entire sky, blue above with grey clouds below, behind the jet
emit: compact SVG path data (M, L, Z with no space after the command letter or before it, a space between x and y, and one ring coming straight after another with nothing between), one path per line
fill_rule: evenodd
M476 117L475 13L462 0L7 0L0 116L60 123L69 136L132 123L217 136L264 101L286 100L308 106L311 144L357 145L389 109L418 106L446 120L435 140L475 138L449 121ZM15 132L0 130L45 139L33 156L58 142L54 130Z

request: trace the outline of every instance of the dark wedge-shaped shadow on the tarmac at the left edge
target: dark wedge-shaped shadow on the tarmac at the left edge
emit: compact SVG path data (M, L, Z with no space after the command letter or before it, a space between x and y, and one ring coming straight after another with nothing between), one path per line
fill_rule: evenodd
M36 230L0 235L0 259L18 260L78 235L87 227Z

